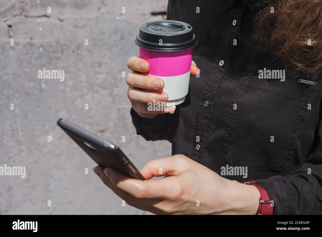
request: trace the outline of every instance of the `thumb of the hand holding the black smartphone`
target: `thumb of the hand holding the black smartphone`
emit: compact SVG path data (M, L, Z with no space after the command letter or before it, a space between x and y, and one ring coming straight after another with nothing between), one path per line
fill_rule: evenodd
M144 165L140 173L146 179L151 179L154 176L177 176L184 170L184 163L185 159L178 155L151 160Z

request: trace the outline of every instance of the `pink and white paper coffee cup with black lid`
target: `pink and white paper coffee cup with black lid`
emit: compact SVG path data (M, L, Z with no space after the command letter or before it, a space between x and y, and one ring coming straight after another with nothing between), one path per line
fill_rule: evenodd
M147 73L161 78L168 94L166 106L181 104L189 90L190 68L193 47L197 40L192 26L170 20L147 22L140 26L135 40L140 58L150 64Z

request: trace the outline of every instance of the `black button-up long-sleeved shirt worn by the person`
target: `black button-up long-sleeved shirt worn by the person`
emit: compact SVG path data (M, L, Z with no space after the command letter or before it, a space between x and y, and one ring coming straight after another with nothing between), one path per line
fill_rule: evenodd
M131 109L133 123L146 140L167 140L172 154L218 174L227 165L247 167L247 178L223 177L260 184L274 201L273 214L322 214L321 73L287 68L285 81L282 74L259 78L260 70L286 69L251 38L260 4L170 0L167 19L193 26L200 77L190 78L174 114L146 119Z

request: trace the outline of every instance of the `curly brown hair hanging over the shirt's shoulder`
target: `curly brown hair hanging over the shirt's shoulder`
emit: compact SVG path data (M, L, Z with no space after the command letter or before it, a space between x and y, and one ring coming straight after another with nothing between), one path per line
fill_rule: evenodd
M321 71L322 0L268 0L256 14L254 27L255 38L285 64Z

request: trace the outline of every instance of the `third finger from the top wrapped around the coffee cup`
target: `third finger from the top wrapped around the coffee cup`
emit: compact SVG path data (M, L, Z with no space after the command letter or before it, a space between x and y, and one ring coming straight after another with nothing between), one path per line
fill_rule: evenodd
M149 92L142 91L140 89L130 87L128 89L128 98L130 101L148 103L148 102L166 102L168 100L168 94L165 92Z

